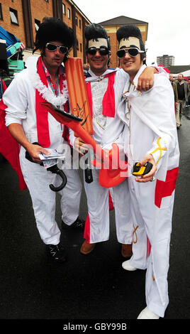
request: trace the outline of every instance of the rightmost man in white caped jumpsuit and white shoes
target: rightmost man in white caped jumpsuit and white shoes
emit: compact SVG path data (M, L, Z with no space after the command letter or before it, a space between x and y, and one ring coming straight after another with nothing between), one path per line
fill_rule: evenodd
M147 269L147 307L138 319L157 319L164 317L169 303L169 242L179 168L174 93L167 75L160 73L155 75L152 89L140 94L136 86L145 67L145 46L140 30L131 25L123 26L118 29L117 38L121 67L130 75L118 106L118 116L125 123L123 141L128 165L132 171L138 161L140 166L147 162L153 165L145 176L128 177L134 225L133 256L122 266L128 271ZM147 252L147 244L150 244L150 252Z

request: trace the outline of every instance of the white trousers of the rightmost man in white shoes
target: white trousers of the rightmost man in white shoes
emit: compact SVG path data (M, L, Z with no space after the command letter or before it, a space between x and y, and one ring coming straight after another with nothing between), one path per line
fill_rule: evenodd
M169 303L167 274L169 269L169 242L172 232L174 192L162 198L161 208L155 205L155 182L129 181L133 216L133 256L130 264L147 269L145 295L147 308L160 317ZM151 252L147 257L147 238Z

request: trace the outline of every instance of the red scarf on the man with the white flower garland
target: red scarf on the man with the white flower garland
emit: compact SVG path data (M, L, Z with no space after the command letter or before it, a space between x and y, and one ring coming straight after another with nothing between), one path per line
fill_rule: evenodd
M43 70L42 59L38 59L37 64L37 73L40 76L40 80L43 82L43 85L48 87L47 77ZM64 76L60 75L60 92L62 91ZM49 134L49 125L48 125L48 112L40 102L45 101L42 95L35 90L35 113L36 113L36 125L37 125L37 134L38 134L38 143L43 147L50 146L50 134ZM69 109L68 102L65 103L65 112L68 112Z

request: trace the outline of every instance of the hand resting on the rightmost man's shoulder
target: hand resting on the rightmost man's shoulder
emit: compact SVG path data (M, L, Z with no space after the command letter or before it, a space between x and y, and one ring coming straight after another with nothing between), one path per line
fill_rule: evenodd
M155 68L147 67L141 73L140 77L138 78L138 87L137 89L142 92L142 90L150 90L153 86L154 81L154 74L157 73Z

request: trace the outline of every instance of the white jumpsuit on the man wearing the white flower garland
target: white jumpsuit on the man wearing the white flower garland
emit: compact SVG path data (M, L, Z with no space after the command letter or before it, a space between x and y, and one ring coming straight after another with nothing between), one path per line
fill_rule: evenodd
M35 114L35 75L36 60L28 63L28 68L18 73L4 93L6 104L6 126L11 123L22 124L23 130L30 143L38 141ZM48 86L50 90L50 86ZM60 149L67 141L62 137L63 129L54 117L48 113L50 146ZM33 202L35 220L40 237L45 244L60 242L60 229L55 221L55 193L49 185L60 185L60 176L52 174L38 163L31 163L25 158L26 150L21 147L20 164L24 180L30 191ZM82 183L77 170L65 169L67 185L60 191L62 220L70 225L79 216L79 204L82 193Z

